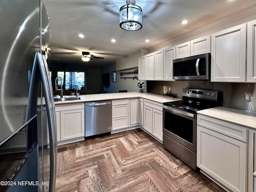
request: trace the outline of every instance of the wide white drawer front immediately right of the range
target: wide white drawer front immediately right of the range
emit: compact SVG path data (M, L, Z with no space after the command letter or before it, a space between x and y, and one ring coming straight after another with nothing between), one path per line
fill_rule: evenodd
M247 129L206 116L197 116L197 125L247 143Z

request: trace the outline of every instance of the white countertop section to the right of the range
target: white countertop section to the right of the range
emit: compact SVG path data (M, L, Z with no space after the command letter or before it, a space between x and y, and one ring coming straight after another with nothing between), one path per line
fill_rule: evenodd
M200 115L209 116L226 122L234 123L240 126L256 129L256 113L244 110L215 107L197 112Z

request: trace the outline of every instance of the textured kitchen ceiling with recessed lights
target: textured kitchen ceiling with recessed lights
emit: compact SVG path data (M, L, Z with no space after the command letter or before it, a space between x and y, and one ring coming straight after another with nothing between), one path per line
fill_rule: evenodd
M87 67L100 67L240 10L246 13L253 7L256 12L255 0L137 0L143 27L125 31L119 27L119 8L126 0L44 0L44 4L50 20L51 63L74 68L84 66L82 51L104 57L87 63ZM180 24L184 19L188 24Z

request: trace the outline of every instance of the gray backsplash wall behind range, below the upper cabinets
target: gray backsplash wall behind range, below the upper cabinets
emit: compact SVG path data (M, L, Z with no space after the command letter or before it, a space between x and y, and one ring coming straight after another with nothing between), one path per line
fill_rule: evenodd
M223 106L256 112L256 83L220 83L210 81L147 81L147 92L164 93L164 86L182 98L182 88L216 90L223 92ZM165 88L166 90L166 88ZM244 101L244 93L252 94L252 101Z

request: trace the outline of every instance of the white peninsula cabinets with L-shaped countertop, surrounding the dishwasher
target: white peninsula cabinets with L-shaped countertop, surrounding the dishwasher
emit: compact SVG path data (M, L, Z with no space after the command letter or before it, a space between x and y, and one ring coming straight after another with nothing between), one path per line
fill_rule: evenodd
M85 103L103 100L112 100L112 134L142 128L162 143L162 103L180 100L139 92L91 94L79 97L79 100L55 102L58 145L84 140Z

